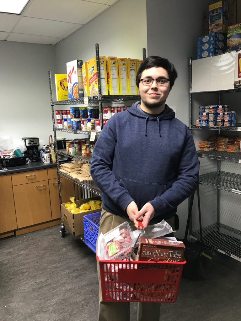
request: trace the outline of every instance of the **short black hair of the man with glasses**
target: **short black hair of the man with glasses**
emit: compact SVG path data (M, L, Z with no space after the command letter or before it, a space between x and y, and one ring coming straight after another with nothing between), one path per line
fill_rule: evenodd
M164 68L168 75L169 75L169 79L170 79L170 89L172 88L172 86L174 85L174 82L177 78L177 71L176 68L174 67L173 64L170 63L169 60L159 57L159 56L149 56L146 59L144 59L137 71L137 75L136 75L136 85L139 88L139 83L140 83L140 78L141 78L141 74L144 70L146 69L150 69L153 67L162 67Z

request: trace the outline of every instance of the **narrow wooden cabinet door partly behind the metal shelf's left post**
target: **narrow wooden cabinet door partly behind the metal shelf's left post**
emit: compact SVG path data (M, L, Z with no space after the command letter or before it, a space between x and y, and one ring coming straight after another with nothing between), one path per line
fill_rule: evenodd
M69 197L74 196L74 183L65 177L60 177L60 188L62 203L67 203L69 201ZM49 195L51 203L52 220L55 220L60 218L58 178L49 179Z

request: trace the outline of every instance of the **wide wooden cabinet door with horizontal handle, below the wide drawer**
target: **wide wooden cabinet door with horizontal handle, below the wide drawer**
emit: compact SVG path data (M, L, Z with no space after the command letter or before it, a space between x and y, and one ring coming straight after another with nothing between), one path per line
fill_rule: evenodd
M48 180L13 186L13 195L18 229L52 220Z

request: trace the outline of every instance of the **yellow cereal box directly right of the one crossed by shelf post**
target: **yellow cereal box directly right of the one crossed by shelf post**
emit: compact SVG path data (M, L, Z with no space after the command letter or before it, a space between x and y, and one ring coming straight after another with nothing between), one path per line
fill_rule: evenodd
M109 95L120 95L117 57L106 57L106 71Z

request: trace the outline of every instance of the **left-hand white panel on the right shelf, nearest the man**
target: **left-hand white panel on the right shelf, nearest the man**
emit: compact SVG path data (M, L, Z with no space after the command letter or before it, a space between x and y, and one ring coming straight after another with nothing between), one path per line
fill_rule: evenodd
M192 61L192 91L210 91L212 57Z

